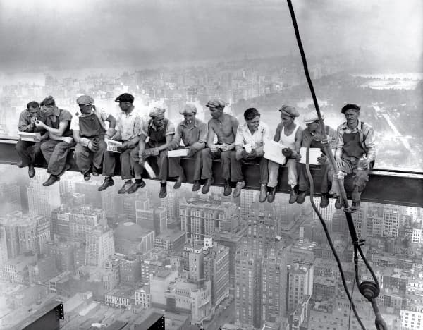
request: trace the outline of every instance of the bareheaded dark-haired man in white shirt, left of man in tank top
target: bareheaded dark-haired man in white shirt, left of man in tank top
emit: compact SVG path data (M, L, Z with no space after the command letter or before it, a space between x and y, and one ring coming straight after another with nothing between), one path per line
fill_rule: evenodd
M238 126L235 138L235 154L231 154L231 178L237 181L233 197L241 194L245 186L241 161L259 163L260 166L260 197L259 202L264 202L267 197L267 181L269 172L267 170L267 159L264 155L264 143L270 140L269 126L260 120L259 111L250 108L244 112L245 123Z

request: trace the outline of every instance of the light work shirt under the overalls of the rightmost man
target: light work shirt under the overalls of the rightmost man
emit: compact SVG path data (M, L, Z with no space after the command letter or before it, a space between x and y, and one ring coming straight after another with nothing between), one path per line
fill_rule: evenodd
M344 134L354 134L359 133L360 144L362 148L366 151L366 156L369 161L374 161L376 159L376 143L374 141L374 129L368 123L364 123L358 120L357 127L350 129L348 128L347 122L345 121L337 129L338 132L338 145L336 147L336 154L341 158L343 152L343 135Z

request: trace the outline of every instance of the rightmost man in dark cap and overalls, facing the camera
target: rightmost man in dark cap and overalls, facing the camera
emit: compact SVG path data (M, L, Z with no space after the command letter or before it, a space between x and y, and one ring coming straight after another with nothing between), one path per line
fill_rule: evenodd
M336 146L335 161L343 175L353 173L353 211L360 209L361 193L369 180L369 171L376 159L376 145L372 126L360 121L360 106L346 104L341 109L346 121L338 126L338 145ZM329 171L329 181L333 182L332 193L340 196L337 181L333 180L333 170ZM338 197L335 207L343 206L341 197Z

